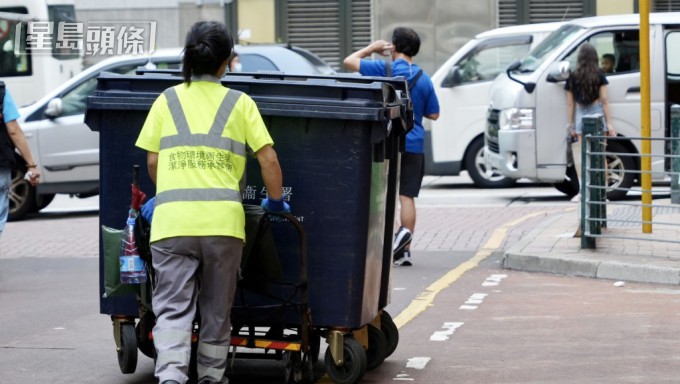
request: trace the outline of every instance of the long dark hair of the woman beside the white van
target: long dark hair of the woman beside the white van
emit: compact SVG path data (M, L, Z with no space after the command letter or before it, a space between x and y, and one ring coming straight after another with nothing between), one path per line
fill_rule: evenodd
M582 104L592 104L600 97L600 67L597 51L592 45L583 43L579 48L576 70L569 81L574 99Z

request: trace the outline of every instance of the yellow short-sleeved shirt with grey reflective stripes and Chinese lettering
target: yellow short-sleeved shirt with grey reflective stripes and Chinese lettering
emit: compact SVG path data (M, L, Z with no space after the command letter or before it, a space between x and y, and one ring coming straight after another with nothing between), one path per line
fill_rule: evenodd
M158 153L151 242L176 236L245 239L239 182L246 147L273 141L255 102L216 77L169 88L154 102L136 145Z

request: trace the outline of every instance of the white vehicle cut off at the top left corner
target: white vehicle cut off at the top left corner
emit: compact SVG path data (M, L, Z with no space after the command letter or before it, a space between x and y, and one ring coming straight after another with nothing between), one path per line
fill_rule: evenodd
M82 70L81 50L59 39L64 23L75 22L69 0L0 0L0 80L17 105L38 100Z

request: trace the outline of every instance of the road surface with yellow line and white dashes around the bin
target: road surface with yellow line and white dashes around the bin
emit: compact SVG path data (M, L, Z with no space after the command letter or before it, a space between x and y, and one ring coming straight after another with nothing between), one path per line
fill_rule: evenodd
M499 267L509 244L573 209L559 193L478 190L459 178L426 185L414 266L392 270L387 310L399 345L363 382L678 382L678 287ZM135 374L118 369L111 322L99 313L96 240L64 241L69 228L96 233L97 204L58 197L3 234L0 384L156 382L141 354ZM323 364L316 369L322 376ZM280 365L238 362L233 372L232 383L283 382Z

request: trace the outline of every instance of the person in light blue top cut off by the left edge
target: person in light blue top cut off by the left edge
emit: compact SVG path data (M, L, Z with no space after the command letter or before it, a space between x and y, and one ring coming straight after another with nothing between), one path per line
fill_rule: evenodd
M4 85L3 85L4 87ZM16 154L14 148L19 150L23 161L26 162L28 169L28 182L36 186L40 178L38 165L31 156L28 143L24 132L21 130L17 119L19 111L14 103L14 99L5 89L5 97L2 101L2 121L0 122L0 235L5 228L7 216L9 215L9 191L12 187L12 170L16 165Z

